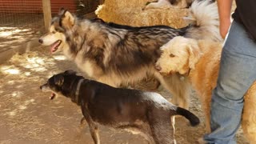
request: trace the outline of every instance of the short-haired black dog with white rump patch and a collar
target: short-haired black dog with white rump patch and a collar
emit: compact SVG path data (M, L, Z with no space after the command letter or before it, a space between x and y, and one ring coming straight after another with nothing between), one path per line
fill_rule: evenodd
M81 106L94 143L100 143L98 124L142 134L149 143L175 143L170 116L182 115L197 126L199 119L190 111L174 106L162 95L141 90L114 88L78 76L67 70L49 78L40 88L61 94Z

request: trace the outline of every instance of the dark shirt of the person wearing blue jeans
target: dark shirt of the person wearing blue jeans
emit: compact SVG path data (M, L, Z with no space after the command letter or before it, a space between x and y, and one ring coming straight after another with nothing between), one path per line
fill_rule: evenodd
M256 41L256 0L235 0L236 10L232 17L235 22L245 26L250 38Z

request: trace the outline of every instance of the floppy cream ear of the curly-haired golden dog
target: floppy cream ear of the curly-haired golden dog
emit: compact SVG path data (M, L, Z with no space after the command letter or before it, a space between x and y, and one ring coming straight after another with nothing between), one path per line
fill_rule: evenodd
M200 52L200 48L198 46L197 40L190 39L187 43L187 50L190 54L189 58L189 66L190 69L194 69L195 64L198 62L199 58L201 58L202 53Z

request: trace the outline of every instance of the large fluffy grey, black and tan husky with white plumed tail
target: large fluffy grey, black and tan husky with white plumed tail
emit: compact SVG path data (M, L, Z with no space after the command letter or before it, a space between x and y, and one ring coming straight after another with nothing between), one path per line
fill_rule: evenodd
M79 19L61 10L52 19L50 30L39 38L50 51L62 53L74 61L90 78L110 86L126 86L146 76L154 76L173 95L175 105L187 107L189 82L179 75L163 77L154 69L159 48L178 35L220 41L216 3L193 2L190 19L193 26L123 26Z

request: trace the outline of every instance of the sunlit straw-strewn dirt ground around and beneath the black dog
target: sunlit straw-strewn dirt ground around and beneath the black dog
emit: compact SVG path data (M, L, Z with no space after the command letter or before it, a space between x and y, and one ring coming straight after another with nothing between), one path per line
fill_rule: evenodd
M50 54L41 46L33 52L14 55L0 65L0 144L93 143L88 126L80 126L79 107L64 97L50 100L50 93L39 89L53 74L70 69L79 71L74 62L67 61L62 54ZM162 88L158 92L170 98ZM197 143L204 134L204 116L195 94L192 94L190 110L202 122L191 127L186 119L176 119L175 137L181 144ZM105 126L100 127L100 137L103 144L146 143L138 135ZM238 131L237 138L238 143L247 143L242 130Z

